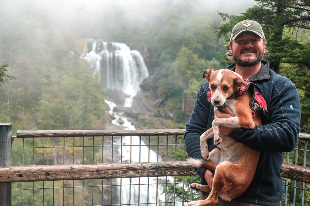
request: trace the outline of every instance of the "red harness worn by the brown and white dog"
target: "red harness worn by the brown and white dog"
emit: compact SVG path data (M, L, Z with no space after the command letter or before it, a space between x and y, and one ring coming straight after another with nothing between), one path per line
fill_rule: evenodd
M250 108L252 110L252 115L255 114L256 111L258 110L262 110L264 115L267 115L267 103L265 101L265 99L262 96L262 90L259 88L259 86L257 86L256 84L254 84L253 82L247 82L247 81L243 81L245 85L242 84L242 86L239 88L238 91L236 91L235 93L233 93L232 95L230 95L227 99L233 99L236 97L239 97L241 95L243 95L243 93L248 90L249 88L251 93L253 94L253 97L250 101ZM255 88L257 88L259 90L259 92L255 91ZM207 99L211 99L211 92L209 91L206 95Z

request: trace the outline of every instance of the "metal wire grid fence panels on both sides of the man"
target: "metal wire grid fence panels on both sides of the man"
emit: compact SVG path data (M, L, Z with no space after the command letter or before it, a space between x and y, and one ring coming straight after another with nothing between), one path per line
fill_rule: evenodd
M81 141L82 138L82 141ZM102 144L98 145L98 138L101 139ZM130 144L123 139L130 138ZM139 138L139 144L134 144L132 138ZM163 141L166 138L166 142ZM78 140L77 140L78 139ZM147 141L148 144L141 144L141 139ZM42 141L43 140L43 141ZM46 141L48 140L48 141ZM62 145L60 144L62 141ZM16 141L15 141L16 142ZM32 144L30 143L32 142ZM52 142L52 143L51 143ZM73 142L73 143L70 143ZM285 155L285 161L287 163L298 164L302 166L310 166L309 159L309 142L299 140L295 149L292 152L288 152ZM308 145L308 147L307 147ZM130 159L124 160L123 150L125 147L130 147ZM156 161L171 161L171 160L185 160L186 152L184 144L179 143L177 136L130 136L130 137L36 137L36 138L22 138L22 165L36 165L36 164L83 164L83 163L111 163L111 162L135 162L132 159L132 151L135 147L139 148L139 161L141 162L141 147L147 147L147 162L150 162L150 151L156 152ZM161 148L165 147L165 149ZM63 162L55 162L55 149L62 149L62 160ZM73 149L73 160L68 162L65 158L66 149ZM82 148L82 161L77 161L76 156L81 156L81 154L76 153L76 150ZM85 149L86 148L86 149ZM89 149L87 149L89 148ZM102 158L95 158L95 151L101 148ZM110 159L104 159L104 150L110 150ZM32 163L29 162L29 152L25 152L25 149L32 150ZM40 159L38 155L39 149L43 149L43 153ZM52 149L52 154L49 149ZM114 151L120 149L120 157L117 158ZM85 151L89 150L89 151ZM128 151L128 149L126 149ZM166 153L163 153L166 151ZM178 152L177 152L178 151ZM183 151L183 153L180 153ZM89 152L91 152L91 161L89 160ZM24 155L27 153L27 155ZM88 153L88 155L86 154ZM160 158L159 153L163 154L164 158ZM170 153L170 156L168 155ZM56 155L59 153L56 152ZM114 154L114 155L113 155ZM171 154L174 157L171 157ZM182 155L180 155L182 154ZM52 155L52 162L51 162ZM14 156L14 153L13 153ZM86 156L88 156L86 158ZM113 158L114 157L114 158ZM308 159L307 159L308 157ZM28 158L28 159L27 159ZM153 158L153 157L152 157ZM14 158L13 158L14 159ZM57 159L57 158L56 158ZM59 158L58 158L59 159ZM25 161L27 160L27 161ZM135 159L136 160L136 159ZM40 162L41 161L41 162ZM43 162L42 162L43 161ZM153 161L151 161L153 162ZM14 164L14 162L13 162ZM134 181L132 181L134 180ZM172 180L172 181L171 181ZM178 178L179 180L179 178ZM22 197L20 198L20 193L12 194L13 205L184 205L184 202L197 199L199 193L195 191L188 190L190 192L190 200L184 200L184 192L188 188L188 184L192 183L194 177L190 178L190 181L185 181L185 177L181 177L181 181L178 181L176 177L164 177L164 178L122 178L122 179L93 179L93 180L70 180L70 181L47 181L47 182L28 182L28 183L12 183L12 188L22 188L20 192ZM197 180L197 177L196 177ZM303 182L298 182L295 180L283 178L283 184L285 186L285 193L281 200L281 205L309 205L310 200L310 185ZM173 186L173 193L167 192L167 187L169 185ZM162 187L163 186L163 187ZM182 189L182 194L180 198L176 198L176 187L179 186ZM138 189L136 189L136 187ZM104 188L106 188L104 190ZM160 189L161 188L161 189ZM162 189L164 188L164 189ZM98 198L96 195L94 197L94 191L101 191L101 197ZM126 201L122 200L122 191L129 191L129 197ZM145 197L140 192L147 191L147 197ZM155 190L155 191L154 191ZM162 190L162 191L161 191ZM62 194L61 194L62 191ZM104 200L104 191L110 191L110 200L107 202ZM137 198L133 198L133 191L138 191ZM159 195L165 193L164 201L160 200ZM52 193L52 198L47 197L47 194ZM119 193L119 196L115 195ZM150 201L149 194L156 193L156 199ZM68 196L65 198L65 195ZM91 194L91 198L88 194ZM56 195L56 197L55 197ZM60 195L60 197L59 197ZM169 196L170 195L170 196ZM15 198L14 198L15 197ZM30 197L30 199L29 199ZM171 198L172 197L172 198ZM44 199L45 198L45 199ZM15 200L14 200L15 199ZM113 202L114 199L114 202ZM116 200L117 199L117 200ZM21 200L21 201L18 201ZM39 200L39 201L38 201ZM38 203L39 202L39 203Z

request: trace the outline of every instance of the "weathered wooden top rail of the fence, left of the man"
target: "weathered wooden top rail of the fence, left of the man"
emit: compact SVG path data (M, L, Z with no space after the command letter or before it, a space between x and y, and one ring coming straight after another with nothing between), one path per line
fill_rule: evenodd
M141 130L18 130L16 137L102 137L102 136L153 136L183 135L185 129Z

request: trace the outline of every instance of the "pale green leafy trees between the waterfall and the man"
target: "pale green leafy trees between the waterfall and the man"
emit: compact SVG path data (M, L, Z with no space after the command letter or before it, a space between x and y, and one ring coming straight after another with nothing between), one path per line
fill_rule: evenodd
M175 121L182 122L186 117L184 104L187 99L195 98L197 90L205 81L202 74L207 68L219 69L221 65L214 57L210 61L198 58L198 55L187 47L181 48L177 53L159 87L160 93L168 95L167 104L175 111Z

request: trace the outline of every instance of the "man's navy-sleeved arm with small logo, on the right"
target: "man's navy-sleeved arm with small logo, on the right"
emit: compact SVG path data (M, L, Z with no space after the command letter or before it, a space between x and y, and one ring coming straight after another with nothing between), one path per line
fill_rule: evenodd
M287 83L274 94L268 108L270 124L237 128L228 136L259 151L291 151L300 131L299 93L293 83Z

